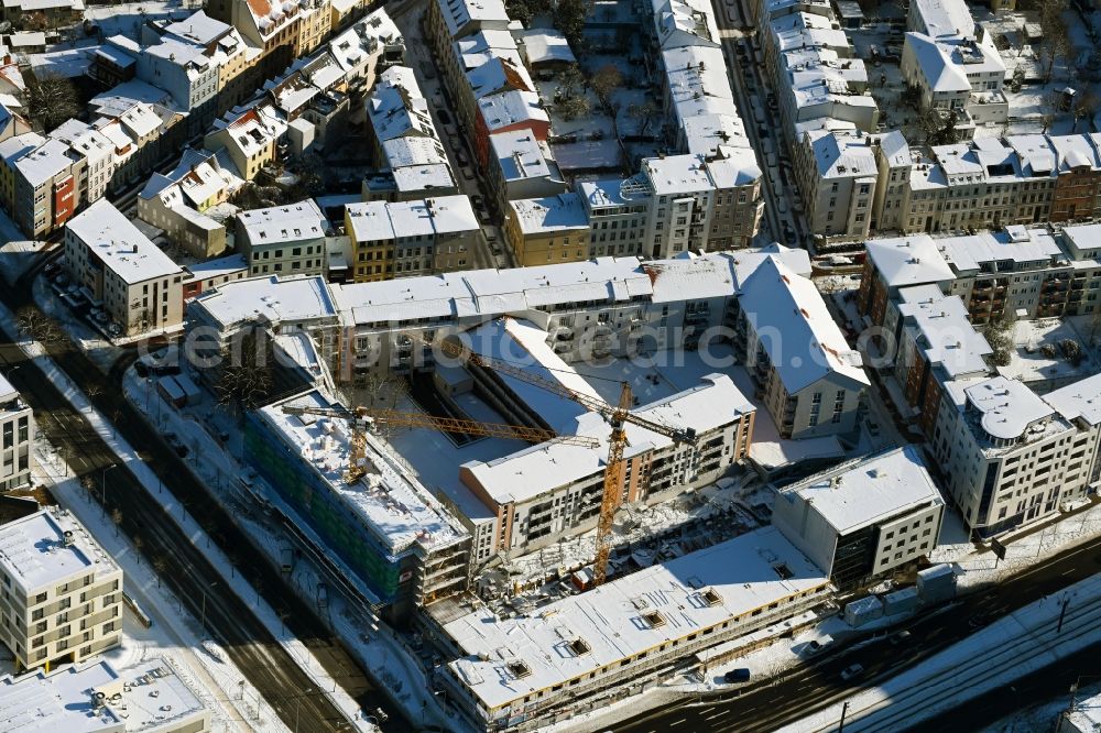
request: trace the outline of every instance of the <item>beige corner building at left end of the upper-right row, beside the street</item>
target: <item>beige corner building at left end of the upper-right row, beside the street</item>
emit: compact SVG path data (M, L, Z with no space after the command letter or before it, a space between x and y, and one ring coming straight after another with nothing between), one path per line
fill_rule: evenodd
M827 130L805 133L795 147L795 176L810 231L868 237L879 168L866 136Z

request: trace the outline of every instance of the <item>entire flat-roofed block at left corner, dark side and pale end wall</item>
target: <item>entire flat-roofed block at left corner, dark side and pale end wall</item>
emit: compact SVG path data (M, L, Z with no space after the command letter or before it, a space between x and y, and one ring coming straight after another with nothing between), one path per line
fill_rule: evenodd
M121 337L179 326L183 271L107 199L65 227L65 264L74 283Z

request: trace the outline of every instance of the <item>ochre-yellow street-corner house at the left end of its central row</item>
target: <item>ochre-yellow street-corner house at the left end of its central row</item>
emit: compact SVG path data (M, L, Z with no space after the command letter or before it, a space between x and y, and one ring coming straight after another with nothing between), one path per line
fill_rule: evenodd
M504 234L521 266L589 256L589 219L573 192L509 201Z

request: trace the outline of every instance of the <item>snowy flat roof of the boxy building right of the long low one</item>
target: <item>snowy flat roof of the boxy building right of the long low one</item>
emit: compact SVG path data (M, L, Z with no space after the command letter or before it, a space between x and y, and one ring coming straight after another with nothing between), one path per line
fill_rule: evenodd
M916 506L942 504L915 446L844 463L785 486L776 501L798 495L839 535L889 519Z

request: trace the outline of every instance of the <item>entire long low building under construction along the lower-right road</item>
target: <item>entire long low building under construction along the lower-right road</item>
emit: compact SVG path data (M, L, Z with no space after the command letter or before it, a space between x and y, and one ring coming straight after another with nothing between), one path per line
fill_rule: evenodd
M830 589L814 562L765 527L539 613L503 619L482 608L449 621L440 680L471 730L535 730L697 667L706 649L798 617Z

